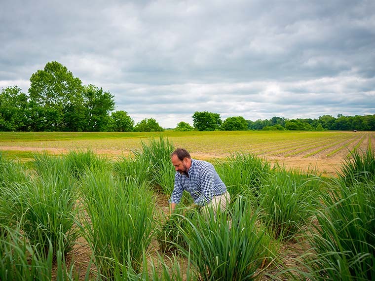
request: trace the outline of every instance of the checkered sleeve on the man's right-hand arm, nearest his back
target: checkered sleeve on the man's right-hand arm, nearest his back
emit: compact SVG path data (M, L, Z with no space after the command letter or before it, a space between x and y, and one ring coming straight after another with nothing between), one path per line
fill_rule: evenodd
M202 167L199 173L199 180L201 182L201 194L194 201L195 205L205 206L212 197L214 197L214 167L211 165Z

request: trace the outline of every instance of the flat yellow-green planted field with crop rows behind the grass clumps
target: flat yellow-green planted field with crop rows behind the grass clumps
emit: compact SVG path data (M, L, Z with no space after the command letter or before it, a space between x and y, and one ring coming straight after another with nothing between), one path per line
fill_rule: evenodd
M342 161L355 149L374 149L375 132L306 131L218 131L162 133L70 133L1 132L0 150L11 158L27 161L36 152L64 154L70 150L92 149L111 158L127 157L142 142L160 136L175 147L187 148L196 159L215 161L242 152L254 153L272 163L290 168L318 169L335 175Z

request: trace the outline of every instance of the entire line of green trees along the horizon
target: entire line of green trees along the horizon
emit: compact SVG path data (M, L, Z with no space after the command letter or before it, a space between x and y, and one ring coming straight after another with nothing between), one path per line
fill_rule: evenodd
M159 132L164 129L153 118L134 124L126 111L115 108L114 96L95 85L83 85L65 66L49 62L30 78L29 95L16 85L1 89L0 131L69 132ZM375 131L375 114L331 115L318 119L245 120L242 116L222 121L219 113L196 111L193 126L180 122L176 131L244 130L359 130Z

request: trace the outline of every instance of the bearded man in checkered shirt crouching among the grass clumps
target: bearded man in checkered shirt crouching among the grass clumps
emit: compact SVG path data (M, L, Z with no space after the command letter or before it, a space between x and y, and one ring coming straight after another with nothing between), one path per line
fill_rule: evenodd
M195 160L190 157L184 148L177 148L171 154L171 161L176 170L175 185L169 200L170 213L180 203L183 191L190 193L197 208L212 208L215 215L220 208L226 209L230 202L230 195L214 166L206 161ZM202 208L202 213L209 216L207 208Z

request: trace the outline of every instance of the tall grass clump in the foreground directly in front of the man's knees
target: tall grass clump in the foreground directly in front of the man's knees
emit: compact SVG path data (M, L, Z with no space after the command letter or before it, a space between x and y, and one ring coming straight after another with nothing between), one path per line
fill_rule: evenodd
M259 209L252 211L248 202L239 197L230 211L214 218L210 210L207 219L197 214L197 222L190 221L181 229L191 255L194 270L200 280L255 280L264 260L270 260L274 248L271 237L258 222Z

